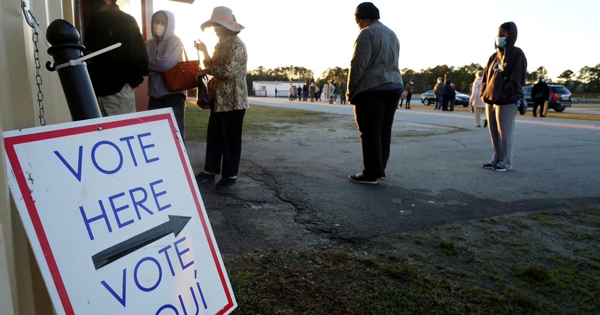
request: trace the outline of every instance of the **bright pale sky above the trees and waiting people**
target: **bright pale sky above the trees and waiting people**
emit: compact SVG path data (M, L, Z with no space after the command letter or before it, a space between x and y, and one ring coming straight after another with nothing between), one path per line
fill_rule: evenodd
M515 22L515 46L523 49L527 70L545 67L556 79L563 71L600 64L598 0L455 0L372 1L380 22L400 40L400 69L415 71L446 64L485 65L494 53L498 27ZM319 77L327 68L348 68L359 28L354 19L360 1L347 0L196 0L185 4L154 0L154 11L175 13L175 32L190 59L193 40L211 52L218 38L200 24L212 8L224 5L245 26L239 37L248 50L248 71L294 65Z

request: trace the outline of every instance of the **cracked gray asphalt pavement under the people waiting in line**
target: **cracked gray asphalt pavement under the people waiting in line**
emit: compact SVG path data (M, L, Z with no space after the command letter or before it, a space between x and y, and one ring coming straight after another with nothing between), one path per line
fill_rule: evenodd
M343 115L353 110L274 98L251 103ZM221 251L353 247L455 221L600 206L598 122L518 116L514 170L493 172L481 168L490 139L485 128L474 127L472 114L402 109L395 118L396 126L466 131L394 139L378 185L347 179L362 170L358 131L356 139L245 142L236 185L199 186ZM188 146L196 171L204 148Z

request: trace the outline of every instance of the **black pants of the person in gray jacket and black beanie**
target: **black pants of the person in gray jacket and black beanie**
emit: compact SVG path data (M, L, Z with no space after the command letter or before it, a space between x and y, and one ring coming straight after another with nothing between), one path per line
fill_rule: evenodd
M392 139L392 124L402 89L361 92L352 98L354 116L361 133L362 173L369 178L385 176Z

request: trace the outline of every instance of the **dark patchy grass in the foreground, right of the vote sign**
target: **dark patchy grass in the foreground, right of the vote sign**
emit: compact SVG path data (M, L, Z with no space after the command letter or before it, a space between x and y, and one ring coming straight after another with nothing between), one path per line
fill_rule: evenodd
M583 237L598 218L599 209L510 215L224 263L240 314L598 313L600 245Z

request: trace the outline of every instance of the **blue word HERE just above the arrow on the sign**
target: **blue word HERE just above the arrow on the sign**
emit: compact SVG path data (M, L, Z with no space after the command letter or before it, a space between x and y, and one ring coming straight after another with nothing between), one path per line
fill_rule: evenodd
M151 182L150 184L148 184L148 186L150 187L151 194L152 194L152 200L154 200L154 204L152 204L152 202L149 202L149 203L152 204L152 208L155 209L157 212L163 211L165 209L169 209L171 207L170 203L164 204L164 202L161 203L159 200L159 197L161 197L161 200L162 200L162 199L164 199L164 197L166 197L166 194L167 194L166 190L157 189L160 184L164 184L162 179L158 179L158 181L154 181L154 182ZM128 196L128 197L125 197L125 196ZM136 196L140 196L140 199L136 199ZM137 217L137 220L142 220L142 215L140 214L140 209L143 209L149 215L153 215L155 213L152 211L152 209L148 208L148 205L147 205L147 203L148 203L147 202L148 201L148 188L143 188L143 187L132 188L128 191L128 194L125 194L125 192L121 192L118 194L113 194L112 196L109 196L107 199L110 204L110 210L112 210L110 212L112 214L111 218L115 219L116 225L119 229L121 229L122 227L128 226L131 223L134 223L135 217ZM145 205L145 203L146 203L146 205ZM89 236L90 241L94 240L94 233L92 232L91 223L94 223L95 221L104 219L104 222L106 223L106 230L109 233L112 232L112 227L110 226L109 214L107 214L106 209L104 208L103 200L101 200L101 199L98 200L98 206L100 206L101 214L98 214L95 217L92 216L91 218L88 218L88 215L90 215L90 213L94 212L93 210L90 210L89 208L85 209L85 208L83 208L83 206L79 207L79 212L82 215L83 224L85 224L85 228L86 228L86 230L88 230L88 236ZM129 213L131 211L131 206L133 206L135 215ZM130 211L127 211L127 209L130 209ZM96 229L104 230L104 227L103 226L96 227Z

